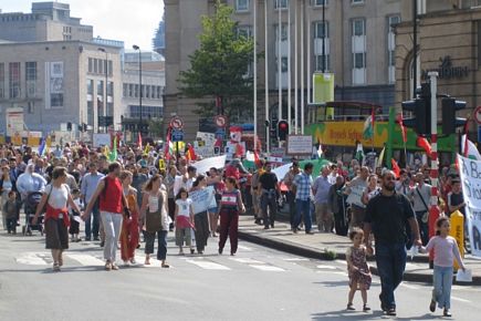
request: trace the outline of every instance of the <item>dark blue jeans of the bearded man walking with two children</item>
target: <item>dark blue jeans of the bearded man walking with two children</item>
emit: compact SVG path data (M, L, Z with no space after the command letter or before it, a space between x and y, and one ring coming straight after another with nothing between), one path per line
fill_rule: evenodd
M376 265L380 278L380 300L387 309L396 309L394 291L402 281L406 268L405 242L376 242Z

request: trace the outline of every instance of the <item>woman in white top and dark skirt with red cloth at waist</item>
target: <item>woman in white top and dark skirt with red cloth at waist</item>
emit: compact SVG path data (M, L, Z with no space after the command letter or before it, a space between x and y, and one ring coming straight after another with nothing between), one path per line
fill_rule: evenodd
M45 248L52 250L54 271L60 271L60 267L63 265L62 252L69 248L67 227L70 220L67 205L80 213L80 208L70 195L65 180L66 168L55 167L52 172L52 184L46 186L32 220L32 224L36 225L39 215L46 204Z

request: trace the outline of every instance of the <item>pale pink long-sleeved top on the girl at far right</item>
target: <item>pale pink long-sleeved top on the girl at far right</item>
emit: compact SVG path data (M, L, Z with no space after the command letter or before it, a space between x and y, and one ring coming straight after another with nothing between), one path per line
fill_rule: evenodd
M461 265L461 255L459 253L458 242L453 237L447 238L435 236L431 237L426 248L427 251L435 249L435 266L438 267L452 267L454 258L459 265Z

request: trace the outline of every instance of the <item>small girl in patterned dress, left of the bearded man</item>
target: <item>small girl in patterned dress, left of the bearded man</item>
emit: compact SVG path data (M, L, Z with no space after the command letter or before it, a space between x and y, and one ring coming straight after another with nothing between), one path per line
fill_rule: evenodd
M353 246L346 251L347 272L349 276L349 296L347 310L356 310L353 304L354 294L360 290L363 297L363 311L370 310L367 306L367 290L370 288L372 276L366 261L366 248L363 246L364 231L360 228L353 228L349 232Z

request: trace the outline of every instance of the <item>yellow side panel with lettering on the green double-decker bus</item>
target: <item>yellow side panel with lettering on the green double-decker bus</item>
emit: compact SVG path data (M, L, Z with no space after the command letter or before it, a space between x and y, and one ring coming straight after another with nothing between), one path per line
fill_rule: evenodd
M374 128L374 147L383 147L387 142L387 128L381 133L377 131L377 124ZM373 139L363 138L364 122L325 122L323 131L321 126L315 130L315 142L322 142L323 145L332 146L355 146L359 141L364 146L372 146Z

